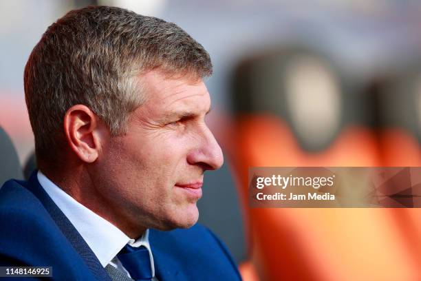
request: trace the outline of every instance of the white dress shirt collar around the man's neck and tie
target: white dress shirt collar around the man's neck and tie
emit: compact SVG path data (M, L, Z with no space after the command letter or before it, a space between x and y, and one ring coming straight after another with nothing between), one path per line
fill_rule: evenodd
M147 229L138 240L131 239L118 229L118 227L111 224L111 222L98 216L72 198L72 196L65 193L63 189L55 185L41 171L38 171L37 177L43 189L45 189L58 208L60 208L61 211L63 211L63 214L72 222L72 225L80 233L83 240L89 245L96 258L98 258L102 264L102 267L111 264L130 276L129 272L127 272L120 260L118 260L117 254L127 243L132 247L144 246L148 249L149 258L151 258L153 280L157 280L155 278L155 267L153 264L151 246L149 244L149 229Z

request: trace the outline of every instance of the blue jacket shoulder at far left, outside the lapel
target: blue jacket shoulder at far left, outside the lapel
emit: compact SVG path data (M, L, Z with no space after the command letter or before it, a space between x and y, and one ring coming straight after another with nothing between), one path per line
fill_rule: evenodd
M0 189L0 265L53 267L57 280L80 279L85 264L26 185L8 180Z

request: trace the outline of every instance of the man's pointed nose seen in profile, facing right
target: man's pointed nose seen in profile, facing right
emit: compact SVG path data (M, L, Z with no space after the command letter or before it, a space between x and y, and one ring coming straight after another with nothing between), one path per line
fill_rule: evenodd
M224 155L215 136L206 125L200 135L200 138L195 138L197 146L187 156L188 163L200 165L204 170L219 169L224 164Z

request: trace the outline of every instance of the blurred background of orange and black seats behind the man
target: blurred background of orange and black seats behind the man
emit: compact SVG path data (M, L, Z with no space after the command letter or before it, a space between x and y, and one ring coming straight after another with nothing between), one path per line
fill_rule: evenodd
M18 178L34 167L24 65L47 26L88 5L172 21L210 53L208 124L225 164L206 174L199 220L244 280L421 280L420 209L250 209L247 198L248 167L420 166L419 1L0 1L0 127L19 158L8 163L3 141L2 169Z

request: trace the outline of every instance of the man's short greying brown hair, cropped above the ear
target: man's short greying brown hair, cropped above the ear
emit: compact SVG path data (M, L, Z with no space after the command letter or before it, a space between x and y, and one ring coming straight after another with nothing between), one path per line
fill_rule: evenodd
M89 107L111 134L125 132L142 104L136 76L160 68L199 78L212 74L206 50L174 23L116 7L72 10L53 23L25 66L25 100L39 160L56 160L63 118Z

